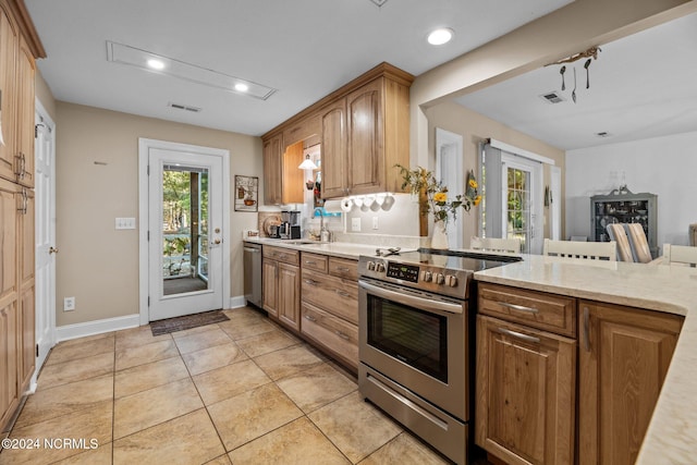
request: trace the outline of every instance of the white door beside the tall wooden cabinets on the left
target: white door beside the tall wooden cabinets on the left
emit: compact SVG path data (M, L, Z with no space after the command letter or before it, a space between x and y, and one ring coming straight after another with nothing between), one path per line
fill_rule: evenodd
M34 380L56 344L56 125L36 101L36 344Z

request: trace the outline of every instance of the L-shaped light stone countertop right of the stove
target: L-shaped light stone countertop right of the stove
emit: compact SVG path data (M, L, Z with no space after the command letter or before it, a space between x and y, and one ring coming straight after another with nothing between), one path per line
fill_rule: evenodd
M637 464L697 462L697 268L524 255L475 279L685 316Z

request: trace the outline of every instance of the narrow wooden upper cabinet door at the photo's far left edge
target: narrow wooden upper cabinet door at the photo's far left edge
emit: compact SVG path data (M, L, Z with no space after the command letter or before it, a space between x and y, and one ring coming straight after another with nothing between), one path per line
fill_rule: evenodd
M15 86L15 62L17 53L17 33L14 25L4 10L4 4L0 4L0 93L2 101L0 110L2 111L2 139L4 145L0 144L0 178L14 181L16 179L15 171L15 130L16 130L16 108L14 99L16 93Z

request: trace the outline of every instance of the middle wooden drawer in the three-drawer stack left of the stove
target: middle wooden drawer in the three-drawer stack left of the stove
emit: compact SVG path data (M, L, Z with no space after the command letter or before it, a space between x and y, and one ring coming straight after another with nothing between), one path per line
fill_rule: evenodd
M303 270L303 302L358 325L358 284L347 280Z

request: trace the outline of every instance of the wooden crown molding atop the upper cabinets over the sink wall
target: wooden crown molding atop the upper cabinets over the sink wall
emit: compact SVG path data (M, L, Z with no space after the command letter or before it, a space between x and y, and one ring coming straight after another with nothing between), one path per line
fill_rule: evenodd
M360 86L380 76L388 77L389 79L394 81L398 84L403 84L406 87L409 87L414 82L414 76L407 73L406 71L402 71L390 63L382 62L377 66L372 68L371 70L366 71L355 79L344 84L343 86L341 86L333 93L329 94L328 96L323 97L322 99L305 108L299 113L291 117L289 120L273 127L271 131L268 131L266 134L262 134L261 138L266 140L268 137L271 137L278 133L282 133L289 126L293 124L297 124L304 118L313 114L314 112L318 111L320 108L325 107L326 105L329 105L335 101L337 99L344 97L345 95L352 93L353 90L359 88Z

